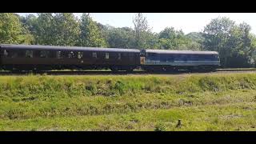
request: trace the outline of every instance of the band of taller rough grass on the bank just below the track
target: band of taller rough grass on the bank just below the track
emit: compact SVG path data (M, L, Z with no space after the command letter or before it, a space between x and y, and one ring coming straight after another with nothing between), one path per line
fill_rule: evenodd
M0 94L8 98L113 96L256 89L256 74L214 76L18 76L0 77Z

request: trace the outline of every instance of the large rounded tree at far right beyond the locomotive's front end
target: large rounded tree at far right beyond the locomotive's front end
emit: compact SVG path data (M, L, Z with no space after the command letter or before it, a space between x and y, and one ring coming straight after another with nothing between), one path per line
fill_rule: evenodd
M229 18L214 18L203 32L206 50L218 51L223 67L248 67L254 62L255 47L250 26L236 25Z

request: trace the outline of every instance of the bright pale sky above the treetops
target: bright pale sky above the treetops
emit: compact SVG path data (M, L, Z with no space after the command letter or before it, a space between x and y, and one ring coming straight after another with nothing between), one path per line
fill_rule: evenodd
M18 13L26 16L29 13ZM30 13L35 14L35 13ZM74 13L80 18L82 13ZM90 13L94 21L114 27L134 27L132 19L135 13ZM142 13L148 20L153 32L160 32L167 26L183 30L185 34L202 31L211 19L228 17L237 23L246 22L256 34L256 13ZM36 14L35 14L36 15Z

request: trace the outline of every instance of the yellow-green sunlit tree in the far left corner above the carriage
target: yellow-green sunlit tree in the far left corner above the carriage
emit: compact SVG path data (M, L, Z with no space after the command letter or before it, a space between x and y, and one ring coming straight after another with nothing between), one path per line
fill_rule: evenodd
M17 14L0 14L0 43L30 44L31 39L29 32L22 27Z

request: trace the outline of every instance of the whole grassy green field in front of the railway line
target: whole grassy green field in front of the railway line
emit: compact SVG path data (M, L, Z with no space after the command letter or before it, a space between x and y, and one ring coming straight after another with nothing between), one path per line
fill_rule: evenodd
M0 130L256 130L256 74L0 76Z

